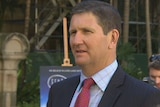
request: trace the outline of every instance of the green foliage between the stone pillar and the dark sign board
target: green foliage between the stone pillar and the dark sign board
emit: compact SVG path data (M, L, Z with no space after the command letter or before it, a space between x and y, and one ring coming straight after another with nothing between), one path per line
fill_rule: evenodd
M17 104L20 107L39 107L39 74L32 70L32 60L27 58L19 65ZM34 106L31 106L35 104ZM29 106L30 105L30 106Z

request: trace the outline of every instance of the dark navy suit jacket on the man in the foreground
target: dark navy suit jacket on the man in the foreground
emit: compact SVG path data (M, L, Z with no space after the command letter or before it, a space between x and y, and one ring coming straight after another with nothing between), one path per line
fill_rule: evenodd
M47 107L69 107L79 76L55 83ZM119 66L98 107L160 107L160 91L126 74Z

